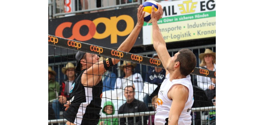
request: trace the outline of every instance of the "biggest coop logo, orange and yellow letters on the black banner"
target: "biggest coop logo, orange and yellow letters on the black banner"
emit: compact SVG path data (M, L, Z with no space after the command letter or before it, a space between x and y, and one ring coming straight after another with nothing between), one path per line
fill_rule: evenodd
M124 31L119 31L117 28L117 23L119 21L125 21L127 27L125 27ZM103 23L105 25L105 31L103 33L98 33L96 28L99 23ZM80 29L83 26L87 26L89 32L86 35L82 35L80 33ZM88 41L92 38L94 39L104 39L110 36L111 44L117 43L117 36L126 36L131 33L134 28L134 20L129 15L120 15L113 16L110 19L106 17L100 17L97 19L91 20L80 20L77 23L73 24L72 22L63 22L61 23L55 30L55 36L63 37L64 29L71 28L72 35L67 39L76 39L77 41ZM64 37L63 37L64 38Z

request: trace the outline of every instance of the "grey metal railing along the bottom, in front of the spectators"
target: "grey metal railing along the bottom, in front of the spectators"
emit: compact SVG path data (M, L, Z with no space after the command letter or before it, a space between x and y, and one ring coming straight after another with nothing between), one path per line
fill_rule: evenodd
M203 111L210 111L210 110L216 110L216 106L209 106L209 107L198 107L198 108L192 108L193 112L193 118L194 118L194 112L200 112L201 113L201 124L205 124L205 122L208 122L210 124L209 120L206 120L205 115L202 115ZM151 112L136 112L136 113L127 113L127 114L115 114L115 115L108 115L108 116L102 116L100 119L106 119L106 118L128 118L129 116L135 117L141 116L142 122L143 122L143 116L149 116L149 115L155 115L157 111L151 111ZM209 114L209 113L208 113ZM193 120L193 125L195 125L195 119ZM54 120L48 120L48 124L53 123L65 123L66 119L54 119ZM119 120L120 121L120 120ZM151 121L151 117L150 117ZM126 119L127 122L127 119ZM152 125L150 123L150 125Z

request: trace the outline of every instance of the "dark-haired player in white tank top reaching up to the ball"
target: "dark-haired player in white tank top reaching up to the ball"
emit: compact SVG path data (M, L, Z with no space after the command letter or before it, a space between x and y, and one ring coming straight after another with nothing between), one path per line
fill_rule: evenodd
M193 87L190 73L197 65L196 56L189 49L181 49L170 57L163 39L158 20L162 18L163 9L152 6L152 40L153 47L166 70L166 79L162 82L157 99L155 125L190 125L191 107L193 105ZM176 31L177 32L177 31Z

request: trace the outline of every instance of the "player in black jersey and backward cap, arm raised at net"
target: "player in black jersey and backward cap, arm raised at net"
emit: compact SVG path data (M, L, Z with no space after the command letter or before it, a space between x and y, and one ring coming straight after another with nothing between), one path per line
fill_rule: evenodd
M137 24L127 39L119 46L118 51L129 52L144 24L143 5L137 11ZM95 54L78 52L75 59L79 60L76 72L79 75L73 81L70 90L70 100L67 101L65 118L67 125L98 124L102 102L102 74L119 59L106 58L99 61Z

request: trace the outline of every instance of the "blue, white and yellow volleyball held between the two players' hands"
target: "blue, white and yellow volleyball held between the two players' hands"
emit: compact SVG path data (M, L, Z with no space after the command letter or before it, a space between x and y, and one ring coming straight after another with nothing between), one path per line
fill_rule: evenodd
M154 9L155 9L155 11L157 11L158 10L158 6L157 6L156 3L158 3L158 2L153 1L153 0L148 0L148 1L145 1L142 4L143 7L144 7L143 11L145 11L144 21L146 23L152 23L152 20L151 20L151 17L150 17L150 14L151 14L151 11L152 11L151 7L152 7L152 5L154 5L154 7L155 7Z

